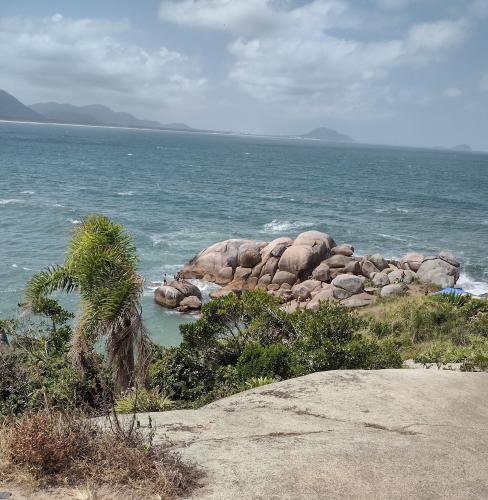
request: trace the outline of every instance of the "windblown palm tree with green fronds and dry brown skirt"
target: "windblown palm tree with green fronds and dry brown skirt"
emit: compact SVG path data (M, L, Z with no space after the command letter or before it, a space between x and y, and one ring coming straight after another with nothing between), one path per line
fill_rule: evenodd
M136 248L123 226L91 215L74 229L64 264L34 275L26 291L34 310L56 290L79 293L81 307L71 342L74 362L83 371L86 354L104 338L117 390L130 387L148 360L141 315L143 279L136 268Z

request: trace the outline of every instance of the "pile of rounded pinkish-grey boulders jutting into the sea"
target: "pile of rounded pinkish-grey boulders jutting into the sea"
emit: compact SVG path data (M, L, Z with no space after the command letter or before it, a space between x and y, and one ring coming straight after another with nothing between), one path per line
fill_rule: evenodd
M319 231L306 231L295 239L271 242L230 239L202 250L154 292L161 306L181 312L201 308L202 294L187 280L221 285L216 298L243 290L264 290L280 297L283 308L317 309L321 302L364 307L378 296L419 293L419 283L452 287L459 279L460 262L448 252L435 256L408 253L400 260L380 254L356 256L349 244L336 244Z

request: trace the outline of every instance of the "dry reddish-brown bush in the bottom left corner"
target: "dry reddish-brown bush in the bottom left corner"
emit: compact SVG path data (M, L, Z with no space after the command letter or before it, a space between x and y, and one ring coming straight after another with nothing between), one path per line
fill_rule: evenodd
M4 427L0 478L38 486L124 487L127 497L175 498L196 486L198 471L152 437L115 422L112 430L67 413L26 414Z

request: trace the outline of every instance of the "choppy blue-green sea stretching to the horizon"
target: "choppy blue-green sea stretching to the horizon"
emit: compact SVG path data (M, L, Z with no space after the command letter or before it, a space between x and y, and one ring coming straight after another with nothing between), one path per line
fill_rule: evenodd
M157 307L151 282L232 237L313 228L358 253L448 249L464 285L488 290L488 155L0 123L0 317L93 212L134 235L144 314L166 344L189 318Z

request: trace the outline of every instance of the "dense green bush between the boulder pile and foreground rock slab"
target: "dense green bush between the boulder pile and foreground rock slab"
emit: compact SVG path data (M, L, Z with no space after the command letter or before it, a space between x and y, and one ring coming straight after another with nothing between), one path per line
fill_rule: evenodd
M182 325L179 347L160 350L151 384L200 405L249 387L321 370L400 367L394 343L364 337L365 321L344 307L286 313L265 292L221 297ZM247 382L247 384L246 384Z

